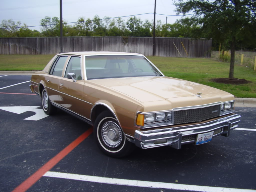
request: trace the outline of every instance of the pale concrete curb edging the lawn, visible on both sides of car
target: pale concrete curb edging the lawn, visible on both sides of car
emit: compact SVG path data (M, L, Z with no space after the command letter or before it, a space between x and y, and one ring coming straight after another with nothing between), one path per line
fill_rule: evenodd
M32 75L37 71L0 71L0 75ZM236 107L256 107L255 98L235 98Z

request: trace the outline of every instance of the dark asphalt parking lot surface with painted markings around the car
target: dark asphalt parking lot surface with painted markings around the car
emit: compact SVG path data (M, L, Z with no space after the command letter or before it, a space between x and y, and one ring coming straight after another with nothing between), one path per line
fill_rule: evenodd
M91 126L44 115L30 75L0 75L0 191L256 191L256 108L229 137L203 145L102 154Z

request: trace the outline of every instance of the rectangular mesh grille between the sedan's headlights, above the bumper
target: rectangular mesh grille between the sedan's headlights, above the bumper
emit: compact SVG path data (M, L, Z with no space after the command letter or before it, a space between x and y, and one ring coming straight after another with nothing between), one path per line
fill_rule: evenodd
M220 105L205 108L174 111L174 124L203 121L219 116Z

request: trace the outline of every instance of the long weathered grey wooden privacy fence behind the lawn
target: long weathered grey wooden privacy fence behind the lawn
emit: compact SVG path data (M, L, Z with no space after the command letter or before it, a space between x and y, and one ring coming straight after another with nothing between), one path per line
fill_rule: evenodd
M156 37L156 56L210 57L211 39ZM0 54L56 54L59 37L0 38ZM121 51L152 56L153 37L63 37L63 51Z

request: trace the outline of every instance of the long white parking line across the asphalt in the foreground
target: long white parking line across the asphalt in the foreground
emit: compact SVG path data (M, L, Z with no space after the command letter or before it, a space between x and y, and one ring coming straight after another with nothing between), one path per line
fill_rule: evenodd
M134 187L148 187L148 188L165 188L165 189L176 189L185 191L204 191L204 192L252 192L252 189L235 189L235 188L225 188L225 187L208 187L199 185L185 185L177 183L162 183L162 182L151 182L151 181L139 181L139 180L129 180L129 179L116 179L108 177L97 177L90 175L77 175L71 173L60 173L48 171L44 174L45 177L56 177L63 179L73 179L79 181L89 181L96 183L106 183L113 185L126 185Z

